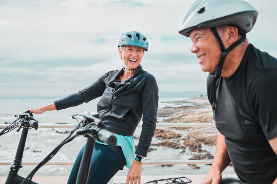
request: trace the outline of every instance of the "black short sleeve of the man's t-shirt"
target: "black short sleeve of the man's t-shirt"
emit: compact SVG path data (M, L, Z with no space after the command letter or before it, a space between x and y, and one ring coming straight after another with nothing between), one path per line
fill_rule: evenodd
M249 106L267 140L277 137L277 69L265 69L254 78Z

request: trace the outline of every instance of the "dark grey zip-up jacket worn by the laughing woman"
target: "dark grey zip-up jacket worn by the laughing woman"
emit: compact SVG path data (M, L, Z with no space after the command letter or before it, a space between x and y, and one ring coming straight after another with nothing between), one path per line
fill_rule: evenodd
M89 87L56 100L57 110L89 102L102 96L97 112L102 123L116 134L132 136L142 118L142 131L136 154L147 156L157 121L158 86L155 77L141 66L125 81L123 69L105 73Z

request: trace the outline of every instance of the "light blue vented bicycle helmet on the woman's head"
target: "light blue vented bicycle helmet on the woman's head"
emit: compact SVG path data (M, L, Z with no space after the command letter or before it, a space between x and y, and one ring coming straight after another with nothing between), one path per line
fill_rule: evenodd
M117 47L122 47L125 45L142 47L145 49L145 51L147 51L149 47L147 38L138 31L131 31L131 32L126 32L122 34L122 36L119 39Z

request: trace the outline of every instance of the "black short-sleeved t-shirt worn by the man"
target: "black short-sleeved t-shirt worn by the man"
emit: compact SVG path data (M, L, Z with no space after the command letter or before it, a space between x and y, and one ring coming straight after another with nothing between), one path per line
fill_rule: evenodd
M248 183L273 183L277 156L268 141L277 137L277 59L249 44L235 73L220 78L216 96L214 120L236 174Z

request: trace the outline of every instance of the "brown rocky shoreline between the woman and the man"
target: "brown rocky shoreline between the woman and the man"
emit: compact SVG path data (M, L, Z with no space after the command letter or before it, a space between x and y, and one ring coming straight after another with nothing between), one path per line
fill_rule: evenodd
M214 122L211 105L207 97L161 103L166 105L158 110L157 123ZM179 156L188 154L191 160L214 158L218 133L215 127L156 129L154 133L149 154L157 150L158 147L167 147L166 149L180 149ZM210 150L214 151L206 150L206 147L210 147ZM195 164L189 166L192 169L200 169L201 167L201 165Z

